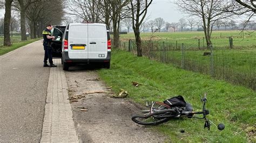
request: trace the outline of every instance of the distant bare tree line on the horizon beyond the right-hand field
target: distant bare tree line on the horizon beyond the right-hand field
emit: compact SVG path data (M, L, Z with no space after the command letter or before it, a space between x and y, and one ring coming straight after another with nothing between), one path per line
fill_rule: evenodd
M119 31L131 32L131 19L125 18L121 22ZM246 25L246 26L245 26ZM163 18L158 17L152 20L145 21L140 26L140 32L177 32L177 31L203 31L203 22L200 19L195 18L180 18L179 21L176 22L166 22ZM251 20L247 22L247 20L238 22L235 19L224 19L217 20L214 24L214 30L255 30L256 22Z

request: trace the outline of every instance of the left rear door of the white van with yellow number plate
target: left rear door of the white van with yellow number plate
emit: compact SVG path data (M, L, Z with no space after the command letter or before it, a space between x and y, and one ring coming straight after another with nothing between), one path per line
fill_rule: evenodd
M88 58L88 24L70 24L69 27L69 58Z

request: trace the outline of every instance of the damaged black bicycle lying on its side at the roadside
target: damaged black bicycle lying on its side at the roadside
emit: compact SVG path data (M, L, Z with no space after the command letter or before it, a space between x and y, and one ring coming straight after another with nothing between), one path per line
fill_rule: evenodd
M192 105L186 103L183 96L176 96L165 100L164 102L154 102L150 106L150 110L143 110L143 115L132 116L132 121L140 125L159 125L166 123L173 118L197 118L204 119L204 128L210 130L211 124L216 126L220 131L224 130L224 124L215 125L213 121L209 120L206 116L210 114L210 111L206 109L206 94L202 98L200 96L201 102L203 103L202 111L193 111ZM201 117L195 115L202 115Z

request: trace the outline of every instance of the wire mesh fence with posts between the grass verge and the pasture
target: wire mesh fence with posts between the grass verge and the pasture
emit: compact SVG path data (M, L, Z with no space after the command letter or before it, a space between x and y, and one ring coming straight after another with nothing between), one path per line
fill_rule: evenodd
M137 54L134 40L123 41L120 48ZM206 46L206 45L205 45ZM186 70L196 71L256 90L256 49L206 48L167 40L142 41L143 56Z

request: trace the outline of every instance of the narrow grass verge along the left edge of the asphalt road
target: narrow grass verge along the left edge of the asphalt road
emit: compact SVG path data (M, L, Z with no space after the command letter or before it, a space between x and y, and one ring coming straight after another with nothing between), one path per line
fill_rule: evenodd
M31 42L35 42L39 39L41 39L41 38L30 39L30 40L21 41L21 42L15 42L11 46L0 46L0 55L6 54L6 53L11 52L11 51L14 51L15 49L17 49L19 47L28 45Z

